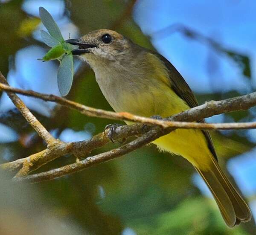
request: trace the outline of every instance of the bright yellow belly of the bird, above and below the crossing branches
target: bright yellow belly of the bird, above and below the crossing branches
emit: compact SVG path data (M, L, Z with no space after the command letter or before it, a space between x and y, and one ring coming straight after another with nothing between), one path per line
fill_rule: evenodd
M125 102L131 100L134 102ZM126 96L125 101L123 102L125 111L147 117L153 115L167 117L189 109L189 106L169 87L166 93L161 92L152 95L147 91L144 94L140 93L138 97L132 97L132 99ZM131 124L130 122L127 123ZM161 151L167 151L186 158L201 170L207 169L210 162L212 162L212 154L207 146L207 140L200 130L177 129L166 136L156 139L153 143Z

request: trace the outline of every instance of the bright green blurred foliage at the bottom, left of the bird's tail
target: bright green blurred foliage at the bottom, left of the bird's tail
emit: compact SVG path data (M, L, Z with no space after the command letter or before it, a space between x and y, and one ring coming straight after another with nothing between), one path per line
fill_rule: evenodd
M138 234L247 235L241 228L230 232L221 223L216 224L220 219L211 201L206 206L205 199L189 197L172 211L132 220L131 225L138 228Z

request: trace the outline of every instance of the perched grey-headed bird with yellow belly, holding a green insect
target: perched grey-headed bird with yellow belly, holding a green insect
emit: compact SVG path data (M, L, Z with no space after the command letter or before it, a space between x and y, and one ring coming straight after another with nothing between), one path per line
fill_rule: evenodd
M103 95L116 112L167 117L198 106L188 84L166 58L115 31L100 29L66 42L79 46L73 55L79 55L94 70ZM192 163L227 226L251 219L249 207L218 165L208 131L176 129L153 143Z

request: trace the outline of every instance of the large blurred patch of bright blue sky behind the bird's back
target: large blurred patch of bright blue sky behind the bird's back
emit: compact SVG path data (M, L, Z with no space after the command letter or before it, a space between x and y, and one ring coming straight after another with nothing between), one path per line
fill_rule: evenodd
M188 40L179 32L157 35L155 32L175 23L183 24L213 38L227 49L250 55L256 65L256 3L252 0L140 0L134 19L155 48L168 58L196 92L238 90L246 92L249 81L227 56L209 46ZM213 60L216 70L207 72ZM255 82L255 66L252 66Z

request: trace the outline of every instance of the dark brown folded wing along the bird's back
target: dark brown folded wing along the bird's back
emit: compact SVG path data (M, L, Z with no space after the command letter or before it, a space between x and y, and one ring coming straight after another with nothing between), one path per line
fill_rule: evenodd
M175 69L175 67L162 55L158 54L157 52L151 52L154 55L156 55L167 67L169 71L169 78L171 80L172 84L172 89L175 91L177 96L179 96L181 99L183 99L189 107L196 107L198 106L198 102L195 98L195 95L192 93L192 90L190 89L189 85L186 83L184 78L180 75L180 73ZM205 123L204 119L198 120L198 122ZM212 138L209 134L209 131L203 131L207 142L208 142L208 147L210 151L212 152L212 155L217 159L217 154L215 152L215 148L212 143Z

